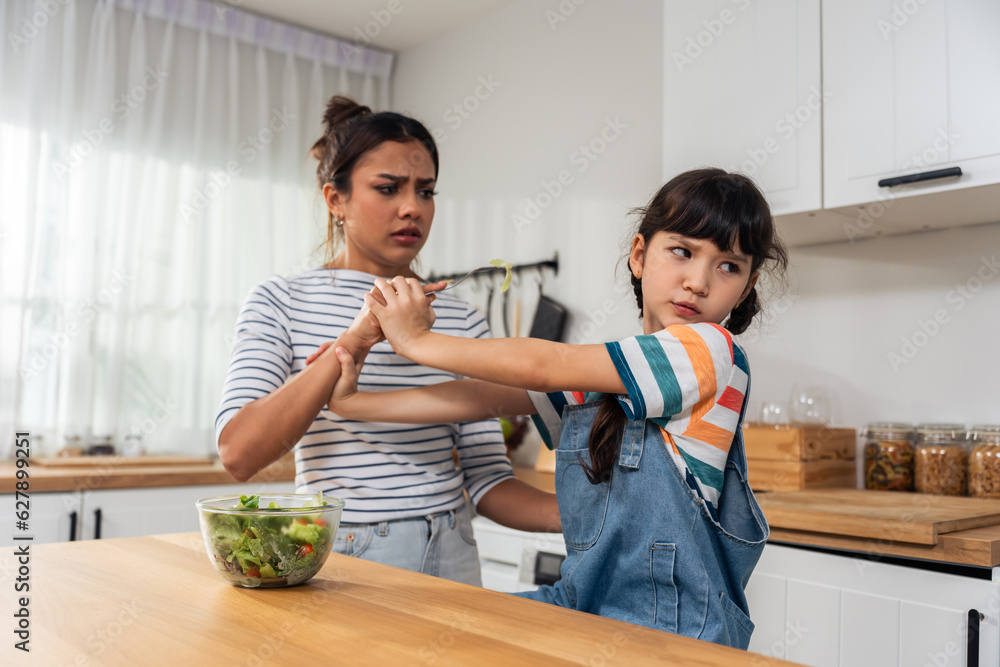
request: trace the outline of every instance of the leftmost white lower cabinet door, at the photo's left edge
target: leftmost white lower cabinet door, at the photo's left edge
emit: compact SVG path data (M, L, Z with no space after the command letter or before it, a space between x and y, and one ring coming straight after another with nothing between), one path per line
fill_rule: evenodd
M15 525L15 503L19 500L13 493L0 495L0 546L9 547L17 542L14 537L32 536L33 544L66 542L80 538L80 494L30 493L28 497L28 529L20 530ZM20 499L20 500L23 500Z

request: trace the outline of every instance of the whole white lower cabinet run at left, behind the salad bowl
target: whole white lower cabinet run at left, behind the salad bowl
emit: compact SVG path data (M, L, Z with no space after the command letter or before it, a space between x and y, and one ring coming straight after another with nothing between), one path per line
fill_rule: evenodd
M15 536L25 535L44 544L196 531L199 498L294 491L289 481L31 493L28 531L16 528L15 494L0 494L0 546L12 546Z

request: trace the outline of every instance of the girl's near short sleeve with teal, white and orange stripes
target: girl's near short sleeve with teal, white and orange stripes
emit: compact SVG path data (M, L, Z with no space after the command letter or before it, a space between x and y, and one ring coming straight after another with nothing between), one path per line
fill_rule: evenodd
M651 419L683 434L724 394L734 363L733 341L707 322L675 325L652 335L607 343L627 396L629 419Z

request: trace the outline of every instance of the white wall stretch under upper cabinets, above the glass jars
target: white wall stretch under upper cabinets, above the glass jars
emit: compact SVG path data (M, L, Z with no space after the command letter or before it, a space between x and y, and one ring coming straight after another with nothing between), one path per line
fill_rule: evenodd
M849 426L1000 422L1000 224L797 248L791 259L785 296L744 336L754 409L787 401L799 382L830 387Z

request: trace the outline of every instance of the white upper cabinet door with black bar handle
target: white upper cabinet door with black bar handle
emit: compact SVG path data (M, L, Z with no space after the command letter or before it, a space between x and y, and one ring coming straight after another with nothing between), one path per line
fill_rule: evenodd
M995 0L823 3L827 208L1000 182L998 32ZM878 186L956 166L958 179Z

